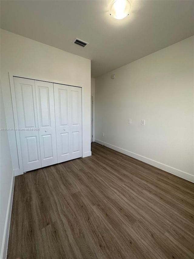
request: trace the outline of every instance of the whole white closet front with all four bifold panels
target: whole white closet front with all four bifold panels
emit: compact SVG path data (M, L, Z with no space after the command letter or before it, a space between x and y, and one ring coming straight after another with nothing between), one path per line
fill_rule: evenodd
M14 77L14 90L23 172L82 157L81 87Z

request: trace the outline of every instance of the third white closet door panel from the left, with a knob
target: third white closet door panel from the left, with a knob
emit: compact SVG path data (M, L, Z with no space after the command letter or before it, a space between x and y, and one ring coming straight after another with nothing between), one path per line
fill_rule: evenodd
M69 86L54 83L58 163L71 159Z

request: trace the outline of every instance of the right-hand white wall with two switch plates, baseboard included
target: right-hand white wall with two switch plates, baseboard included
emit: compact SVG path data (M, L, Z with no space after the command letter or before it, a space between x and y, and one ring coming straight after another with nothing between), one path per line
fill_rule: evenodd
M95 141L194 182L193 53L194 36L96 78Z

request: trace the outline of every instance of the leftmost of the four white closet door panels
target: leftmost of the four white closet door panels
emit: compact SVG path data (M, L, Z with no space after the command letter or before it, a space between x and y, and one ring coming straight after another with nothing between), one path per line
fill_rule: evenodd
M14 77L23 171L41 168L35 82Z

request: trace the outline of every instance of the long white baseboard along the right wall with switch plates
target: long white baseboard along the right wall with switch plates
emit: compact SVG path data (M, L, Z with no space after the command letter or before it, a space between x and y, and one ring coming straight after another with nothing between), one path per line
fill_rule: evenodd
M194 176L192 176L192 175L190 175L190 174L188 174L186 172L183 172L183 171L175 169L175 168L173 168L171 166L164 165L162 163L156 162L156 161L154 161L152 159L149 159L149 158L146 158L144 156L135 154L135 153L130 152L128 150L116 147L116 146L111 145L109 143L103 142L103 141L101 141L99 139L95 139L95 142L100 144L100 145L105 145L106 147L114 149L114 150L116 150L116 151L118 151L118 152L120 152L122 154L129 155L129 156L131 156L131 157L133 157L135 159L138 159L138 160L140 160L142 162L145 162L146 164L153 165L153 166L155 166L155 167L157 167L159 169L162 169L162 170L164 170L166 172L169 172L169 173L171 173L173 175L179 176L179 177L181 177L181 178L183 178L185 180L188 180L190 182L194 182Z

